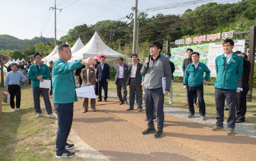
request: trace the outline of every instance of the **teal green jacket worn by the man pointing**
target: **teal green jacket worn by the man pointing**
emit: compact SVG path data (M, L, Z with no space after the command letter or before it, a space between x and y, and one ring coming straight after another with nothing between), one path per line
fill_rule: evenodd
M83 65L80 61L66 63L59 58L53 63L53 103L73 103L78 101L73 71Z

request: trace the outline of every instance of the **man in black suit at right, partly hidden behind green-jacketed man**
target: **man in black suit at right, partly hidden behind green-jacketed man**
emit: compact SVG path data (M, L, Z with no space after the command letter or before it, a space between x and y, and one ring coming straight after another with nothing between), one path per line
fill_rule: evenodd
M249 90L249 75L251 71L251 63L247 60L248 56L245 53L239 53L243 58L243 71L237 80L237 88L241 90L236 91L236 123L244 122L246 113L246 95Z

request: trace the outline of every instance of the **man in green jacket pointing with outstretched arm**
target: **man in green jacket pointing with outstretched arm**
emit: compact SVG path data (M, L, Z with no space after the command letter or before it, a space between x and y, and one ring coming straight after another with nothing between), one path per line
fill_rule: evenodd
M58 117L55 157L67 158L75 155L75 152L67 150L74 147L74 144L67 143L67 138L73 120L74 102L78 101L73 71L84 64L93 65L96 62L93 58L68 62L72 53L67 44L61 44L58 53L59 59L54 62L52 69L53 105Z

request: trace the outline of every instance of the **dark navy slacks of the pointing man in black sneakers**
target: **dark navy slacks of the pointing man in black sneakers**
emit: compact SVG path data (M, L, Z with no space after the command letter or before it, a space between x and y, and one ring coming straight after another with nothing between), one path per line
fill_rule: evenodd
M54 103L58 118L58 130L56 138L56 152L64 153L65 144L73 121L73 103Z

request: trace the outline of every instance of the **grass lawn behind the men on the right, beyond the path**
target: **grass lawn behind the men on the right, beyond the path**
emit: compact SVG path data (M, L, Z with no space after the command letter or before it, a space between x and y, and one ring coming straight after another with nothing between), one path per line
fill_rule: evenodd
M108 83L108 90L116 92L115 80L111 78ZM127 87L129 93L129 87ZM216 107L214 98L214 86L204 85L204 102L206 103L206 116L216 117ZM256 123L256 88L252 90L252 101L247 102L247 112L245 115L245 123ZM182 83L173 82L173 104L171 106L178 107L183 111L188 112L188 106L184 106L187 103L186 92L183 89ZM164 104L169 104L169 95L164 97ZM198 100L197 100L198 105ZM225 103L227 107L227 103ZM198 108L195 108L195 112L199 113ZM224 119L227 121L228 111L224 111Z

